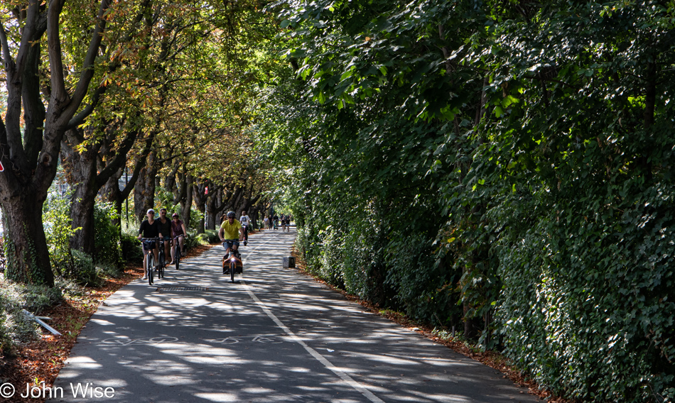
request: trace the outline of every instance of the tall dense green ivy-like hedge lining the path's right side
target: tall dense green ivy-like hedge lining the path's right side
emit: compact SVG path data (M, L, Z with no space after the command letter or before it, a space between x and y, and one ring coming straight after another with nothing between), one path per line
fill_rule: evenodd
M259 144L310 270L568 397L675 400L672 10L287 3Z

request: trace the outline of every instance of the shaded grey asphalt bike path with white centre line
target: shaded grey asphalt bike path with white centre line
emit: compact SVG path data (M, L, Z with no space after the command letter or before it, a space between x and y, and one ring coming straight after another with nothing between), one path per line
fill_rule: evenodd
M242 244L234 284L215 246L153 286L119 289L82 329L48 402L539 402L282 268L295 234Z

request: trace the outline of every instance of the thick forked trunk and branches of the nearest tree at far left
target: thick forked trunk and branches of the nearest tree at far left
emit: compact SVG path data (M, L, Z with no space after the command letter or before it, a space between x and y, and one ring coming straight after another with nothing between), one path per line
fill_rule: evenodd
M90 93L95 58L107 21L103 16L109 2L102 0L97 18L92 18L96 22L90 32L92 39L82 60L80 78L69 82L68 89L59 35L63 2L52 1L48 8L41 1L26 3L21 6L21 13L15 15L21 21L10 22L21 26L20 43L8 40L4 29L0 33L6 86L6 123L0 119L0 160L6 167L0 175L6 274L10 280L53 287L42 209L56 175L66 129L82 123L96 104L96 97L92 97L92 102L80 110L83 99ZM18 50L14 52L12 48L16 46ZM42 46L48 51L50 72L47 108L40 92ZM104 87L100 88L97 94L104 91Z

